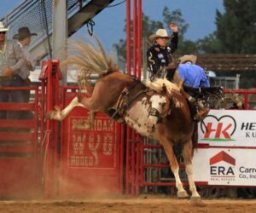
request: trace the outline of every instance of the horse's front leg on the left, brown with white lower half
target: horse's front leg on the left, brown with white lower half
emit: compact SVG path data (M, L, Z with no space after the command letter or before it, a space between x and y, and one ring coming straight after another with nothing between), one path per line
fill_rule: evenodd
M178 175L179 166L178 166L178 163L177 163L177 158L175 157L175 153L173 152L172 145L166 139L160 140L160 143L165 149L166 156L169 159L169 162L170 162L170 165L171 165L172 173L175 176L176 187L177 187L177 197L178 198L188 198L189 195L184 190L183 183L180 180L180 177Z

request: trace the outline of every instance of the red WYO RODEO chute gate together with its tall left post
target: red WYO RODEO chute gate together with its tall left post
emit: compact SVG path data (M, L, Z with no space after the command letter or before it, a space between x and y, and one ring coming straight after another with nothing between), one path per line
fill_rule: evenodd
M55 106L66 107L79 88L59 85L59 61L44 61L43 71L41 79L47 94L47 112ZM75 130L73 124L88 118L88 113L88 110L76 107L61 124L46 120L43 170L44 193L48 198L122 193L123 127L97 113L92 130Z

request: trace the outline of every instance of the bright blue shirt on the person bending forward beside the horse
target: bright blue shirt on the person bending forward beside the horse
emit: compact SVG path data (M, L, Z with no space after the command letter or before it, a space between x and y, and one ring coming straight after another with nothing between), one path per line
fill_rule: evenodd
M189 87L210 87L207 76L201 66L187 62L177 67L179 76L183 79L184 84Z

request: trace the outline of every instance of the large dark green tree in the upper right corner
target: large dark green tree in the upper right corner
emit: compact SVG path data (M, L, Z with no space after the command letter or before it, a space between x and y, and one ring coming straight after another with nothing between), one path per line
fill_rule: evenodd
M199 41L201 53L255 54L255 11L255 0L224 0L224 14L216 11L216 32Z

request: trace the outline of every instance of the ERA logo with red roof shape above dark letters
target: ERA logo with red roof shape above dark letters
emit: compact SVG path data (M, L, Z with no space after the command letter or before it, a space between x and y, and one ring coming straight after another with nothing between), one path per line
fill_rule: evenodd
M212 177L235 177L236 159L224 151L210 158L210 173Z

